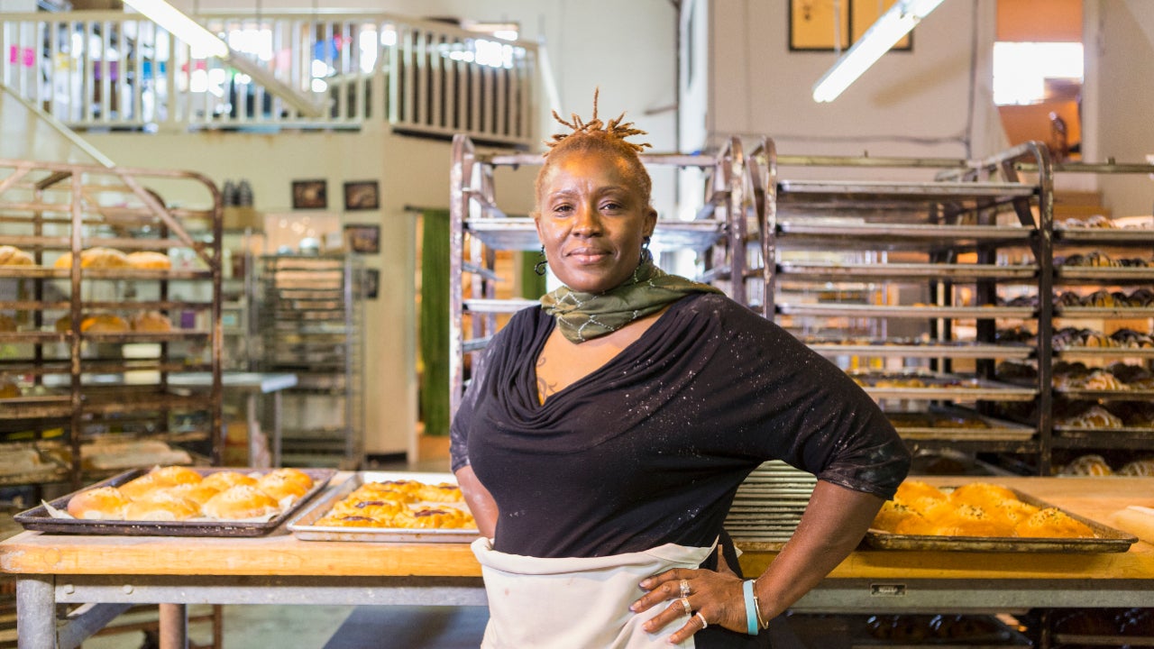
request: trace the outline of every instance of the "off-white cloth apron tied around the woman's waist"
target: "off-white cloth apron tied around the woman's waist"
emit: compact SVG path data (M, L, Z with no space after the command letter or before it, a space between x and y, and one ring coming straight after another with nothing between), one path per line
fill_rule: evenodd
M670 602L634 613L629 605L645 594L637 584L669 568L698 568L713 552L666 544L612 557L542 559L497 552L484 537L472 547L489 598L481 649L667 649L689 616L646 633L642 625ZM694 649L694 639L679 647Z

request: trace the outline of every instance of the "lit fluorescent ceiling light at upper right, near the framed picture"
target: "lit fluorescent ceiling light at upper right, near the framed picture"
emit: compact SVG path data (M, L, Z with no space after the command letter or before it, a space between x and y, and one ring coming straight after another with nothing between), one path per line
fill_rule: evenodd
M127 1L127 0L126 0ZM898 0L814 84L815 102L832 102L863 72L909 33L943 0Z

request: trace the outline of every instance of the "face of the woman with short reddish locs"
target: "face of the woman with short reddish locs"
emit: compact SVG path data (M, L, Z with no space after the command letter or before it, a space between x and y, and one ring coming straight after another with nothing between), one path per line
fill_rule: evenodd
M549 268L570 289L605 292L637 268L657 210L629 178L620 156L590 151L564 154L546 171L537 236Z

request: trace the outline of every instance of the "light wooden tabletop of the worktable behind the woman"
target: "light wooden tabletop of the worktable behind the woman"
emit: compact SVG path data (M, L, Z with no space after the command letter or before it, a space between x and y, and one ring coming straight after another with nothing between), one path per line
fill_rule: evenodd
M1017 488L1074 514L1110 524L1130 505L1154 507L1154 478L926 478L938 485L986 480ZM747 550L758 574L775 552ZM0 543L0 570L87 575L480 576L465 543L300 540L286 530L256 538L125 537L25 531ZM1154 545L1127 552L946 552L859 550L832 579L1052 580L1154 579Z

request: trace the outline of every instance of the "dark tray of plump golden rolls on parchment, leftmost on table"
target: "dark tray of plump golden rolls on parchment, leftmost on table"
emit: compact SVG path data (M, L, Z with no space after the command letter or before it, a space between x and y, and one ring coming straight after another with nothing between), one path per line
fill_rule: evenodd
M334 469L167 465L132 469L21 512L24 529L123 536L262 536L284 523Z

